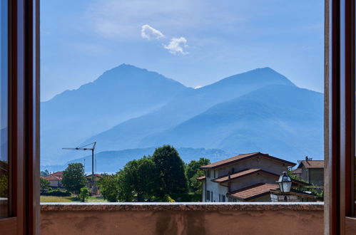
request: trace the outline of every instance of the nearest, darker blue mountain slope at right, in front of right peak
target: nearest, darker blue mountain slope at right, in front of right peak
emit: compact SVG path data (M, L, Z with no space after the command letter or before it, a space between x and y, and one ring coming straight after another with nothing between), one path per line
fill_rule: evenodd
M322 158L323 95L270 85L220 103L171 130L145 137L140 146L212 147L268 152L295 161Z

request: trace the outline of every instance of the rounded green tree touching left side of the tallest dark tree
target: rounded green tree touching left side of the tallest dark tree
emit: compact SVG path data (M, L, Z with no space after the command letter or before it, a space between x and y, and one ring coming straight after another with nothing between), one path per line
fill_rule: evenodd
M128 162L118 174L121 199L136 197L137 202L150 201L158 191L158 176L156 165L150 157Z

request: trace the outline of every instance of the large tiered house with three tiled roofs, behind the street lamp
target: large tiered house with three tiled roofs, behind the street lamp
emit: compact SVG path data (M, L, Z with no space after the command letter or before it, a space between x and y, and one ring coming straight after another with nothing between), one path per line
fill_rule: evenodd
M205 176L203 202L270 202L270 190L278 189L276 181L295 163L261 152L230 157L207 164L200 169Z

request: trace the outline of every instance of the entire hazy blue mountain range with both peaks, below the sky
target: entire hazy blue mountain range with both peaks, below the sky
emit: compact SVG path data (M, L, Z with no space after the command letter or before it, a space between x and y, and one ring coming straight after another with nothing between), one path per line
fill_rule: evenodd
M88 152L61 147L93 141L98 170L112 168L113 162L118 170L163 144L189 148L191 154L182 152L187 161L207 157L208 149L216 158L260 151L293 162L305 155L322 159L322 97L271 68L193 89L121 65L41 104L41 163L83 157Z

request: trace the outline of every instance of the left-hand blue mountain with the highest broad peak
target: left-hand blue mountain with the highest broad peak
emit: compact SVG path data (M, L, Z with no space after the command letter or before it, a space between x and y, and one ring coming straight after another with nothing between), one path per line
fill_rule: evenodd
M184 85L161 74L123 64L92 83L41 103L41 157L68 160L61 147L75 147L120 122L151 113L170 102Z

